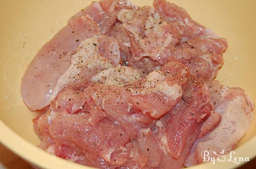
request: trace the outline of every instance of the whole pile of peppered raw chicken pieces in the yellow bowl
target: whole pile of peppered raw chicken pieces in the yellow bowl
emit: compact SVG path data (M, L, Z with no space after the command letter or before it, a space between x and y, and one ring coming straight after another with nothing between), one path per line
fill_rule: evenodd
M79 11L30 63L21 95L40 147L104 169L175 169L231 151L253 103L213 80L227 40L181 7L100 0Z

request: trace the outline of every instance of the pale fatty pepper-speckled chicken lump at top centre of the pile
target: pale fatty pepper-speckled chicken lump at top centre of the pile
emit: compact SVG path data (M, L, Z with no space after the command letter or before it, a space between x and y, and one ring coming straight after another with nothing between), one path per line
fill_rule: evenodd
M128 14L131 15L129 19ZM165 57L166 50L169 45L177 44L178 34L175 34L176 29L166 23L154 8L144 6L136 12L122 9L118 15L130 38L131 53L136 61L146 56L162 65L168 61L168 57Z

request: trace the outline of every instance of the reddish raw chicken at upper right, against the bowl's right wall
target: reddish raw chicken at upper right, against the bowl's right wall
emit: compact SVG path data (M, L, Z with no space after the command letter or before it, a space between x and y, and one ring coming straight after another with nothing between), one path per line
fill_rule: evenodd
M180 33L178 49L171 50L175 59L189 66L199 81L212 80L223 64L222 54L227 50L227 40L192 20L185 9L173 3L154 0L154 7Z

